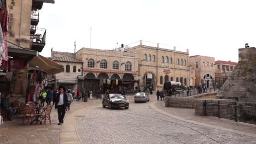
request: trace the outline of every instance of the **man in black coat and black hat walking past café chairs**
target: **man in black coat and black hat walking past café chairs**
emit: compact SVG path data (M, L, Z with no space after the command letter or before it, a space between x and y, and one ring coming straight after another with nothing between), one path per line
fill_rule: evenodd
M58 125L61 125L63 123L63 118L66 113L66 109L68 106L68 96L65 87L60 86L59 87L60 92L56 96L56 103L55 103L55 108L58 109L58 118L59 118L59 123Z

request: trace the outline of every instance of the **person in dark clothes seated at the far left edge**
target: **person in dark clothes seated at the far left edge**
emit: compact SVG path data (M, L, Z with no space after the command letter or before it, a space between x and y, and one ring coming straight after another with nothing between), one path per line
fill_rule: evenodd
M5 94L5 97L1 99L1 107L3 111L8 113L8 121L12 121L12 117L14 113L16 112L16 109L11 109L9 107L9 98L10 98L10 93Z

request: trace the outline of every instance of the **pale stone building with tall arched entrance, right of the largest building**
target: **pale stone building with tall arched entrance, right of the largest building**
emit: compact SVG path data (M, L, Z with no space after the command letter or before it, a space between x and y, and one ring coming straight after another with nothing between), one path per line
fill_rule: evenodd
M189 65L195 70L195 86L213 87L215 79L214 57L190 56Z

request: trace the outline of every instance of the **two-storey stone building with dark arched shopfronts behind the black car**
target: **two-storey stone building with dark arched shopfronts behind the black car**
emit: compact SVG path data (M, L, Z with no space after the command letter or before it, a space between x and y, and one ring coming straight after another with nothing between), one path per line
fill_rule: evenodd
M92 88L97 93L112 88L134 89L138 81L138 54L113 50L82 48L75 57L83 62L84 82L79 89Z

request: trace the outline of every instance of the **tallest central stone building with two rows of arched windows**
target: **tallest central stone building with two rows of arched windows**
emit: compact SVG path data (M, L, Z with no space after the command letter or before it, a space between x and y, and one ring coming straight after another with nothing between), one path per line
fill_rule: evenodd
M139 85L141 88L153 85L162 89L165 81L177 81L187 86L189 79L189 52L165 49L164 45L138 41L125 46L129 53L138 53Z

